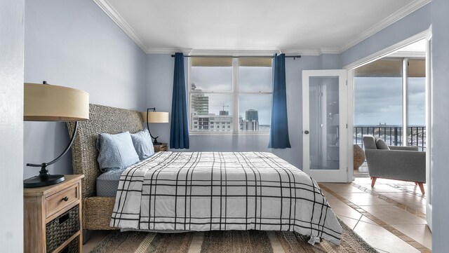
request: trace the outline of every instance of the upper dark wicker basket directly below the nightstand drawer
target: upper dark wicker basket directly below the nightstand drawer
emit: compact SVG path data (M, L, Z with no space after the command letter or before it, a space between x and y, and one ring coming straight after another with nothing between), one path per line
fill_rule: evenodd
M47 252L53 252L79 231L79 205L61 214L46 225ZM71 242L72 243L72 242Z

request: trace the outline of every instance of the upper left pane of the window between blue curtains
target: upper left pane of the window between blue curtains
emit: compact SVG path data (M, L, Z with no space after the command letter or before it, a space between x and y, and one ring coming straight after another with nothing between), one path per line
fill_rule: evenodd
M192 58L192 90L232 91L232 58Z

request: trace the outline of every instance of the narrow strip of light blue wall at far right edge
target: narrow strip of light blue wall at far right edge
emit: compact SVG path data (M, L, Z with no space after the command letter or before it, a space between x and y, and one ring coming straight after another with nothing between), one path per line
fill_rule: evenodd
M432 1L432 251L448 252L449 1Z

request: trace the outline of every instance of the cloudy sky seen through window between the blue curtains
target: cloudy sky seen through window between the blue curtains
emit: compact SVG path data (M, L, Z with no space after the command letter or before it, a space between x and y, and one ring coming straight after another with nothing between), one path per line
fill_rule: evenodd
M192 67L191 82L197 90L232 91L232 67ZM239 67L240 91L271 91L271 67ZM232 115L232 95L206 94L209 97L209 114L219 114L225 105L225 111ZM239 116L245 118L245 111L255 109L258 111L259 125L270 125L272 107L271 95L239 96Z

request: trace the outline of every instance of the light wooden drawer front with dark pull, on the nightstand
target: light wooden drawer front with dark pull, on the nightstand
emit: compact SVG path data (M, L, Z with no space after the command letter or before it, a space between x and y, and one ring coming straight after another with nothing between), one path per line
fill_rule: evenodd
M46 207L47 207L47 215L46 217L50 217L55 212L62 210L64 207L67 207L71 203L79 200L78 196L78 186L79 184L74 184L69 188L55 193L51 196L45 198Z

